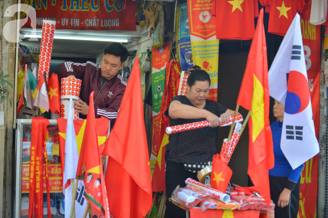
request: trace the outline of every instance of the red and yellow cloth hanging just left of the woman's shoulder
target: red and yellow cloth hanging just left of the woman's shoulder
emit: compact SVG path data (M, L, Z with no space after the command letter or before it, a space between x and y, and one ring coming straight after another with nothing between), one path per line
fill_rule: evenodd
M180 68L178 62L175 60L169 61L166 67L165 86L163 96L161 98L161 105L158 114L158 134L157 145L160 145L157 160L155 159L154 172L152 175L152 190L155 192L165 191L165 146L169 143L169 135L166 133L166 128L170 126L169 118L164 113L169 109L170 102L173 97L178 95L178 88L176 87L177 80L180 78Z

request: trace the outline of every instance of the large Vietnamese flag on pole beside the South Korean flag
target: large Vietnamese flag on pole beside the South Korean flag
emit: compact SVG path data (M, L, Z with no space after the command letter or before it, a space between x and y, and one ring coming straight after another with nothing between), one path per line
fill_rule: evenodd
M248 123L248 175L267 204L270 204L271 200L268 170L275 164L269 123L269 100L266 42L261 9L237 104L251 112Z

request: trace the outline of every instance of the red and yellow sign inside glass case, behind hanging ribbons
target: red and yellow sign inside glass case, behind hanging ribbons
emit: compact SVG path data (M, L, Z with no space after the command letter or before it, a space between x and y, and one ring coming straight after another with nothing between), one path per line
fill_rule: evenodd
M46 192L45 165L43 165L43 192ZM63 192L63 177L61 165L48 165L49 190ZM22 192L28 193L30 188L30 165L22 166Z

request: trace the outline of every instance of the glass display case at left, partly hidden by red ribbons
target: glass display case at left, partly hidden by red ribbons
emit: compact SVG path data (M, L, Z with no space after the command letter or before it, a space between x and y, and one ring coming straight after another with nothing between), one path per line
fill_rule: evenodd
M48 178L50 205L53 218L64 217L64 196L62 167L60 160L59 133L57 120L49 120L46 140L48 156ZM32 120L17 120L16 132L16 198L15 217L28 217L29 207L29 166L31 152ZM44 166L44 162L43 162ZM44 172L45 167L43 167ZM47 217L46 182L43 174L43 217Z

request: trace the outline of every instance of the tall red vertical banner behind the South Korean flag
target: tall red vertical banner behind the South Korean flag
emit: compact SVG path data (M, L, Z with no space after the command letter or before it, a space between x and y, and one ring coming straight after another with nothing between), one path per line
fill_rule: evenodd
M310 24L311 0L306 1L301 14L301 30L304 45L307 76L311 95L315 134L319 138L319 103L320 103L320 26ZM315 217L318 189L318 155L305 162L301 174L300 218Z

